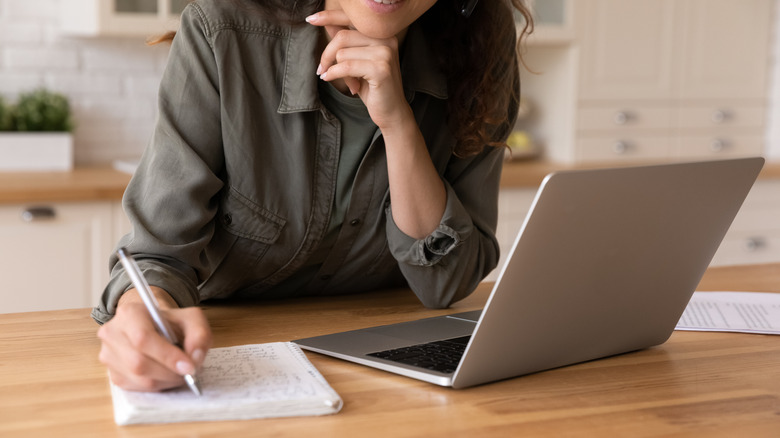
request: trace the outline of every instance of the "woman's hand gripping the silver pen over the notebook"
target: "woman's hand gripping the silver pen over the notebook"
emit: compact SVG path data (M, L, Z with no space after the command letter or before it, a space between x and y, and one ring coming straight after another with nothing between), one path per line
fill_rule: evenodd
M119 301L116 315L98 330L100 361L108 367L111 381L131 391L161 391L184 384L184 375L194 373L211 346L211 329L198 307L177 308L160 288L152 287L160 313L182 340L183 350L161 336L135 290Z

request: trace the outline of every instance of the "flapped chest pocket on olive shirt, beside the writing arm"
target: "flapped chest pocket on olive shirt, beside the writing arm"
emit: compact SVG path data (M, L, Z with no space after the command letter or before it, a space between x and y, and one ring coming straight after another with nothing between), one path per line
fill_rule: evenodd
M232 295L247 284L262 281L278 266L261 263L269 248L279 239L286 220L230 189L223 197L216 240L224 244L220 260L211 276L201 285L202 299Z

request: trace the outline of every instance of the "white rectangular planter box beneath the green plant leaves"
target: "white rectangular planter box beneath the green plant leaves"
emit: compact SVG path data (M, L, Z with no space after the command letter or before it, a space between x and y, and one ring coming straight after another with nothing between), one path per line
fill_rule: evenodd
M0 171L73 169L69 132L0 132Z

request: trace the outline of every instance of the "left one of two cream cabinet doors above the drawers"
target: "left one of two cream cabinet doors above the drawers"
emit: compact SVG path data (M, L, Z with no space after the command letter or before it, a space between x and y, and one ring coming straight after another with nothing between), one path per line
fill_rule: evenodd
M675 1L578 0L580 99L670 99Z

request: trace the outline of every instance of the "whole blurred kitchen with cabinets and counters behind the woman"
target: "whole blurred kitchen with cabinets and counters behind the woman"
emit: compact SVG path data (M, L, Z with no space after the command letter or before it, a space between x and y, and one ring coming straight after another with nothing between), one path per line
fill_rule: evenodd
M151 135L167 58L167 45L145 40L175 28L186 3L0 0L0 96L61 93L75 123L72 170L0 172L0 276L10 279L0 312L99 296L128 230L121 190ZM713 263L780 262L780 0L530 4L537 31L504 171L502 253L534 175L549 169L763 155L769 170ZM41 276L55 260L69 262Z

